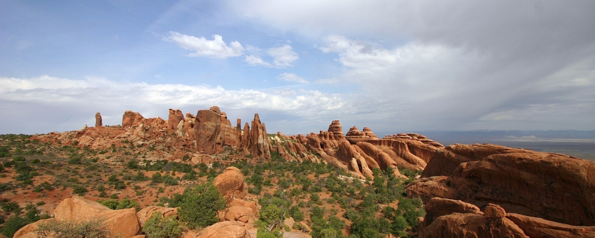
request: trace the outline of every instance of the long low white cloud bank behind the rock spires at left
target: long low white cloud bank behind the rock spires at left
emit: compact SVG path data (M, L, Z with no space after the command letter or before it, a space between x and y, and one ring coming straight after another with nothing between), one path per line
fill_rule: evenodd
M51 76L30 79L0 77L0 133L47 133L92 125L95 112L104 124L120 124L126 110L145 117L167 118L168 108L196 113L213 105L230 118L251 120L254 113L267 116L267 129L285 133L309 133L303 127L287 129L278 118L322 127L339 114L352 113L356 105L342 95L317 90L227 90L223 87L184 84L118 83L106 79L71 80ZM43 120L23 118L43 118ZM281 128L280 128L281 127ZM306 128L308 126L306 125ZM319 126L315 126L318 128Z

